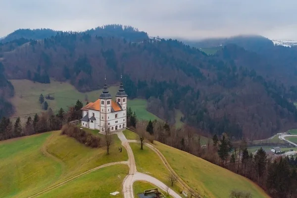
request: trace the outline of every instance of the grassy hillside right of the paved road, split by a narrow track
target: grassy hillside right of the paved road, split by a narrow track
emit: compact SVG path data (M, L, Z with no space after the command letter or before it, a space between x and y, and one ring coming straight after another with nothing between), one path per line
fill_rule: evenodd
M132 131L126 130L124 131L124 135L127 139L139 140L138 135ZM168 181L166 181L168 171L157 154L146 146L144 150L140 150L140 145L136 143L130 143L130 146L135 155L138 171L148 172L165 184L168 184ZM197 189L198 192L207 198L229 197L232 190L248 191L252 194L253 198L269 197L259 186L227 169L156 141L154 141L153 146L164 155L173 170L192 189ZM147 159L152 160L148 162ZM155 167L158 167L158 169ZM181 187L178 186L174 188L177 192L180 189Z

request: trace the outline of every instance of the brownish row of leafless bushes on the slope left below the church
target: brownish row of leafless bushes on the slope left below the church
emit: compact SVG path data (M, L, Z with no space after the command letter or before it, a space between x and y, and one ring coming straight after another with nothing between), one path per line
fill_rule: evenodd
M99 148L101 139L97 136L89 134L71 124L64 125L61 135L66 135L76 139L78 142L85 144L87 147Z

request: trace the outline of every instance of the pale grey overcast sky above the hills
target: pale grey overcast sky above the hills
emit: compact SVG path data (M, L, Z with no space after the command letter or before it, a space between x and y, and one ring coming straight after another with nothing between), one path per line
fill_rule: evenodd
M297 40L297 0L0 0L0 37L19 28L83 31L113 23L149 36Z

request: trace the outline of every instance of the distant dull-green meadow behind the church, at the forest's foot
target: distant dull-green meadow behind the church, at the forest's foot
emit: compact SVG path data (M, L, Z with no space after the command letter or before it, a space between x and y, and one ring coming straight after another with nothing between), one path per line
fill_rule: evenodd
M45 100L49 103L49 107L56 113L59 108L68 109L68 107L74 105L78 99L83 101L84 104L86 104L87 101L96 101L102 92L102 89L100 89L81 93L70 83L57 82L53 79L51 79L50 84L34 83L29 80L10 80L10 82L15 90L15 96L11 99L11 102L16 111L12 117L20 116L23 122L25 122L28 116L33 116L35 113L44 111L42 105L39 103L39 96L41 94L43 94L44 97L48 95L54 97L54 100ZM108 89L111 96L114 97L119 88L118 86L110 86ZM146 109L147 100L128 99L127 102L128 107L131 107L132 111L135 111L139 119L159 119Z

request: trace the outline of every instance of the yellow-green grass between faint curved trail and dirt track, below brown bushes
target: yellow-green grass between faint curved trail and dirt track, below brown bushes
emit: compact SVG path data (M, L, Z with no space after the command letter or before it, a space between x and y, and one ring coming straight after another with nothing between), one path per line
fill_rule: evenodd
M121 146L117 135L112 135L113 144L110 146L110 154L106 155L103 135L100 134L102 148L89 148L77 142L74 138L61 136L55 132L47 143L47 150L50 154L60 159L65 165L65 171L55 183L59 183L75 175L83 173L100 165L128 160L126 149L118 152Z

